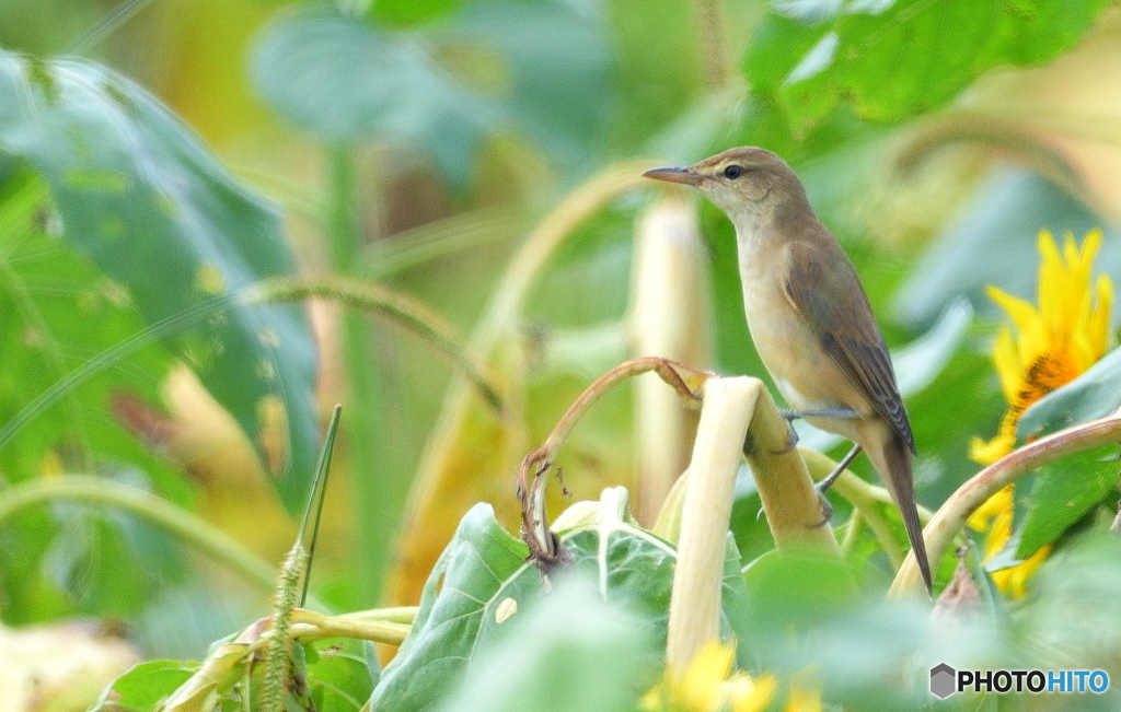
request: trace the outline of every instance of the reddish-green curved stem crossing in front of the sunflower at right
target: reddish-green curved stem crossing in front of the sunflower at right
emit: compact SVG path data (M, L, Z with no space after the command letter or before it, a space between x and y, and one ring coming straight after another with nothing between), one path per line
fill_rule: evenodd
M1004 487L1028 472L1075 452L1121 439L1121 415L1111 415L1075 425L1023 446L984 468L957 488L935 513L924 531L930 561L941 561L951 542L965 527L970 515ZM910 554L904 561L889 596L901 597L921 590L918 566Z

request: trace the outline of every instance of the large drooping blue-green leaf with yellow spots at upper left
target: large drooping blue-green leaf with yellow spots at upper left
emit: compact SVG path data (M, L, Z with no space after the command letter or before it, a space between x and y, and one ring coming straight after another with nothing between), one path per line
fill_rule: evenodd
M161 104L109 69L0 54L0 152L43 176L63 237L149 324L293 271L279 214ZM299 309L232 302L166 343L268 456L281 498L295 508L318 440L311 331ZM280 439L286 431L287 452L266 452L266 419ZM0 432L0 441L18 434Z

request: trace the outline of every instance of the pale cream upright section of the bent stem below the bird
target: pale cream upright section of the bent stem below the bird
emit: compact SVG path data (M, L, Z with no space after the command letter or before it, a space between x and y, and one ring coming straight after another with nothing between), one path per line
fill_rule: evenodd
M757 378L712 378L693 444L669 600L666 665L682 672L720 635L720 594L740 443L762 390Z

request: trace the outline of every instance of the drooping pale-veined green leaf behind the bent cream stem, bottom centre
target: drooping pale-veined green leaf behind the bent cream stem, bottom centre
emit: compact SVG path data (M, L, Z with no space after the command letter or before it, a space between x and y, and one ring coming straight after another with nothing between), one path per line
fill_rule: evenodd
M560 538L573 569L596 581L604 600L639 615L642 635L664 649L675 551L630 519L626 490L604 490L596 515L562 531ZM413 631L374 690L373 712L432 709L480 650L507 639L511 611L522 616L548 599L526 554L525 544L494 521L490 505L476 505L463 517L425 584ZM739 554L730 545L725 611L742 607L744 596ZM728 618L724 628L730 630Z

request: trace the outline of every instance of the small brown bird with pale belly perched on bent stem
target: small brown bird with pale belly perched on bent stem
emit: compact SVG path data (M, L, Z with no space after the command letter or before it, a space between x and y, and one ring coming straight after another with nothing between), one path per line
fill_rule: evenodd
M853 443L818 491L863 450L899 508L930 593L915 500L915 435L888 347L852 262L814 213L797 174L771 151L740 147L642 175L692 186L728 215L748 330L791 409L784 414ZM824 497L823 506L831 512Z

